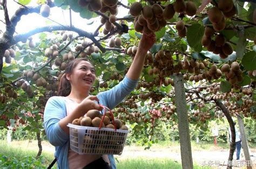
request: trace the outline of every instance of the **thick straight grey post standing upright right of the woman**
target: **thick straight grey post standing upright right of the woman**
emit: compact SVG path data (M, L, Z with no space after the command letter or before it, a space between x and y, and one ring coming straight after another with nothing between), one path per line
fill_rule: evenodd
M181 163L182 168L190 169L193 168L193 160L190 143L190 130L188 127L184 79L182 74L174 76L174 88L178 114Z

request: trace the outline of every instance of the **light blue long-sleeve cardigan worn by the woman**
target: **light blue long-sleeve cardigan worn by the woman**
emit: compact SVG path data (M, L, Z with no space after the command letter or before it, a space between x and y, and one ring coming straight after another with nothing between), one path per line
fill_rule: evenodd
M125 96L136 87L138 80L125 78L115 87L97 95L99 103L113 109ZM49 142L55 146L55 157L59 168L69 168L69 135L60 126L60 119L66 116L66 105L63 96L49 98L44 110L44 128ZM113 155L109 155L111 167L116 168Z

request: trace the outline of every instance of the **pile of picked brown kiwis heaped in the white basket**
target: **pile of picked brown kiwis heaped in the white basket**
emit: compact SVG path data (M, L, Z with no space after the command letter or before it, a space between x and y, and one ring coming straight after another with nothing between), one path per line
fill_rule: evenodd
M85 115L85 117L74 119L72 124L99 128L100 122L103 121L102 128L114 129L114 123L116 124L117 129L128 130L127 126L123 125L119 119L115 118L113 122L109 111L106 112L105 117L100 114L100 111L94 109L87 111Z

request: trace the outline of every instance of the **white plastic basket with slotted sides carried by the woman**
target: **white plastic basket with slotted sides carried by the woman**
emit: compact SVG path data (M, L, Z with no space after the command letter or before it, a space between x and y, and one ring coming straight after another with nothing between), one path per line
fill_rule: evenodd
M127 130L68 124L70 149L78 154L122 154Z

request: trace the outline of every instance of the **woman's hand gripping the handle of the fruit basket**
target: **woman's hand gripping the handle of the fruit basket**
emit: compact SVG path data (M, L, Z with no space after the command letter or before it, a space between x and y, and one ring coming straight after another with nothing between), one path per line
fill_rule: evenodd
M87 111L92 110L92 109L96 109L99 111L101 111L103 109L95 101L99 101L97 96L88 96L88 97L84 98L84 100L82 102L79 103L78 107L80 109L80 112L82 113L81 116L84 116L84 114L86 114Z

